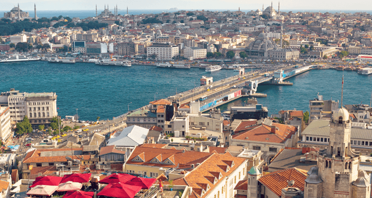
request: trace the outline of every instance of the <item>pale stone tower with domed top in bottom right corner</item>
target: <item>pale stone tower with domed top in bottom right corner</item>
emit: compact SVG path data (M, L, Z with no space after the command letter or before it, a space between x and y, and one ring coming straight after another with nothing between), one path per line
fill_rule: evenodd
M370 184L366 183L369 177L359 170L359 153L350 148L348 111L343 107L337 109L329 127L328 148L319 151L317 167L308 172L304 198L370 197Z

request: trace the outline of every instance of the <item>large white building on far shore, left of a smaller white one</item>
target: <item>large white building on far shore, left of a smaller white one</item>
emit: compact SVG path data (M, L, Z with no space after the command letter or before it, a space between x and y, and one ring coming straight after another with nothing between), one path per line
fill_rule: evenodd
M147 47L147 57L156 54L156 59L172 60L179 55L177 45L169 43L153 43L152 46Z

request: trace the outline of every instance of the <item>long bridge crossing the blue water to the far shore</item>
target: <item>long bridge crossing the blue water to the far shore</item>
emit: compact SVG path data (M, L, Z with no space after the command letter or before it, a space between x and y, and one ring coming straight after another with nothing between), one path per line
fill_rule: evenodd
M239 75L213 82L210 85L204 85L168 97L168 99L180 105L199 100L200 111L203 112L243 96L254 96L259 84L292 85L292 83L284 82L284 80L309 71L312 66L277 66L272 67L270 71L256 70L240 73ZM247 92L243 93L243 89L246 89Z

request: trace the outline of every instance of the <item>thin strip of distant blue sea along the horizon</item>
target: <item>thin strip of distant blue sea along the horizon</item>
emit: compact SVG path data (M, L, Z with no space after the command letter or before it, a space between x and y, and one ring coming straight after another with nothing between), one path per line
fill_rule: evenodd
M252 9L242 9L243 12L249 12L250 10L256 10L257 8ZM9 10L0 10L0 13L8 12ZM28 12L30 17L33 17L35 15L34 10L23 10L25 12ZM100 14L103 10L99 9L98 14ZM112 9L114 12L114 9ZM194 10L186 10L186 11L194 11ZM227 11L224 9L211 9L210 11ZM230 10L230 11L238 11L238 10ZM372 10L335 10L335 9L320 9L320 10L306 10L306 9L296 9L296 10L281 10L283 12L329 12L329 13L336 13L336 12L343 12L343 13L355 13L355 12L367 12L372 14ZM139 14L158 14L162 12L176 12L174 10L168 10L168 9L129 9L128 14L130 15L139 15ZM39 18L41 17L47 17L51 18L53 16L68 16L70 18L73 17L79 17L80 19L87 18L87 17L94 17L96 16L96 10L37 10L37 16ZM124 15L126 14L126 9L120 9L118 10L118 14ZM2 14L1 14L2 15Z

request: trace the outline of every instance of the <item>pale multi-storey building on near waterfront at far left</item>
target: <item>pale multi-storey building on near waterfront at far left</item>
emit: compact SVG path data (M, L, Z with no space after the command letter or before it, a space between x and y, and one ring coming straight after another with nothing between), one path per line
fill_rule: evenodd
M1 93L0 101L1 104L7 101L4 106L9 106L11 121L22 122L27 115L34 128L41 124L49 126L50 120L58 115L56 93L19 93L11 89Z

